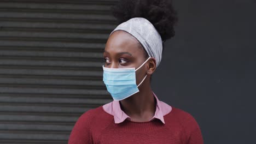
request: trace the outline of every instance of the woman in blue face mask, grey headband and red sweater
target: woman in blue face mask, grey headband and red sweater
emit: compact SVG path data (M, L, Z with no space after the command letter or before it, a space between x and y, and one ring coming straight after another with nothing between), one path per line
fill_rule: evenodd
M120 25L104 49L103 81L114 101L85 112L68 143L202 144L195 119L158 100L150 87L163 41L174 36L177 18L171 3L120 1L113 14Z

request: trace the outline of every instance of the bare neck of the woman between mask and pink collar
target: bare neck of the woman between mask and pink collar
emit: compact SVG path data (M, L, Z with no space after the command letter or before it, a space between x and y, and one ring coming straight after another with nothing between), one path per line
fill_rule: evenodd
M149 121L155 113L156 101L150 85L129 98L120 101L121 109L132 121Z

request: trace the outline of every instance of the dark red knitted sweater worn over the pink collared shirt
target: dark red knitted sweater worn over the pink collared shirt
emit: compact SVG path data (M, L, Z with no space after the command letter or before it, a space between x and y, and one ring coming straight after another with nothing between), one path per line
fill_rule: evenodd
M165 124L159 119L150 122L115 124L112 115L102 106L85 112L75 123L68 144L84 143L187 143L202 144L199 125L187 112L172 107L164 116Z

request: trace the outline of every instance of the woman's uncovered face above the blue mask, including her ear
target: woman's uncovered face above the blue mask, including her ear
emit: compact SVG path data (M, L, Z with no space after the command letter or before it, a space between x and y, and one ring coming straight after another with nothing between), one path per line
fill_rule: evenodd
M113 32L106 43L103 57L106 68L135 68L137 69L145 61L145 51L138 40L124 31ZM148 62L147 62L148 63ZM136 83L138 85L147 74L149 65L145 63L136 71Z

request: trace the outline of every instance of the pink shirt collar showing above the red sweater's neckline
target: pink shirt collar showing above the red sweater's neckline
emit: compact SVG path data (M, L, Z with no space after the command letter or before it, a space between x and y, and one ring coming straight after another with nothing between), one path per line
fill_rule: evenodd
M157 118L165 124L164 116L172 111L172 107L158 100L158 97L156 97L154 92L153 95L156 99L156 109L155 115L149 121L152 121L153 119ZM129 116L127 116L123 110L121 110L119 101L114 100L108 104L103 105L103 110L109 113L110 115L114 116L115 123L124 122L125 119L129 119L130 121L132 121L132 119Z

